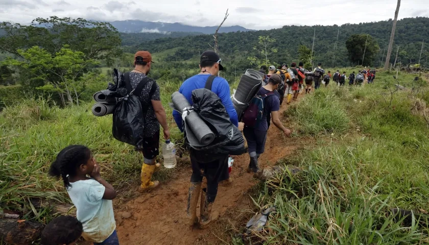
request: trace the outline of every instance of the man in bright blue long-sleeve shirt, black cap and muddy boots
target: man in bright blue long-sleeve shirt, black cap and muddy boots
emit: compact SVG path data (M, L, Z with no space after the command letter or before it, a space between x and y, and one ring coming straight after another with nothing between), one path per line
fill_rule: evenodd
M223 70L219 55L213 51L206 51L200 58L201 72L191 78L188 78L180 86L179 92L183 94L192 105L192 91L194 89L204 88L207 79L213 75L217 76L220 70ZM229 118L235 126L239 126L237 112L231 101L231 95L228 82L221 77L213 80L211 91L216 93L225 106ZM183 132L182 117L177 111L173 111L174 120L177 126ZM242 124L242 123L241 123ZM239 127L240 128L240 127ZM200 229L205 229L208 225L218 218L218 212L211 212L212 204L218 192L220 181L229 179L228 173L228 155L222 156L204 156L198 151L188 148L190 161L192 164L192 176L190 177L190 187L187 203L187 215L190 217L190 225L198 224ZM208 159L207 159L208 158ZM207 188L201 192L201 212L200 219L197 217L197 203L201 190L203 177L207 179Z

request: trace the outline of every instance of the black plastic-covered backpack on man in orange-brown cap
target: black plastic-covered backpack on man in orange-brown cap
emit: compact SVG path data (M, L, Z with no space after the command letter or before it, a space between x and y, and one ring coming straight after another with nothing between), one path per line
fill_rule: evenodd
M127 95L117 102L113 110L112 134L115 139L136 146L136 150L141 150L144 141L145 116L149 105L142 105L139 96L151 79L143 78L135 89L131 87L130 72L124 74L124 79ZM150 97L155 89L156 82L153 81L149 92Z

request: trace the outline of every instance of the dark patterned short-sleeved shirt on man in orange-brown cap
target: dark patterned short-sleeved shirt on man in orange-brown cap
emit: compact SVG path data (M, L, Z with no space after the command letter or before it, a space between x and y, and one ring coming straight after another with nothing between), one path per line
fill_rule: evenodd
M138 72L130 72L130 83L132 89L137 87L137 84L146 77L145 74ZM152 96L149 98L149 93L152 89L152 85L155 80L150 79L145 87L141 90L141 94L139 96L142 105L149 105L148 111L145 115L145 137L151 137L154 134L159 134L159 122L155 116L155 110L153 109L151 101L160 101L161 96L159 94L159 86L155 84L156 89ZM137 94L136 94L137 95Z

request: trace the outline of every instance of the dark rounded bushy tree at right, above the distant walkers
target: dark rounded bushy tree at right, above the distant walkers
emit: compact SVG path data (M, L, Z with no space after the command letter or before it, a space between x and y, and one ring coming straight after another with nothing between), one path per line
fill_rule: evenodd
M377 41L368 34L354 34L346 41L347 55L352 64L372 65L380 47ZM362 59L365 59L362 63Z

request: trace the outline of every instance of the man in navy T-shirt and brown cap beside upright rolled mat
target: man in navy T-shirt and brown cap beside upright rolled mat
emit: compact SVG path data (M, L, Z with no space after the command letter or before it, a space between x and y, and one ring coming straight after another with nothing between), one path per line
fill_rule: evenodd
M264 112L262 118L255 127L244 126L244 137L246 138L250 163L247 171L257 173L259 171L258 158L264 153L265 142L267 139L267 115L271 115L273 124L280 129L286 136L290 136L291 131L283 126L279 118L280 101L274 95L274 91L281 83L281 77L278 74L271 75L268 84L261 87L257 95L264 98Z

